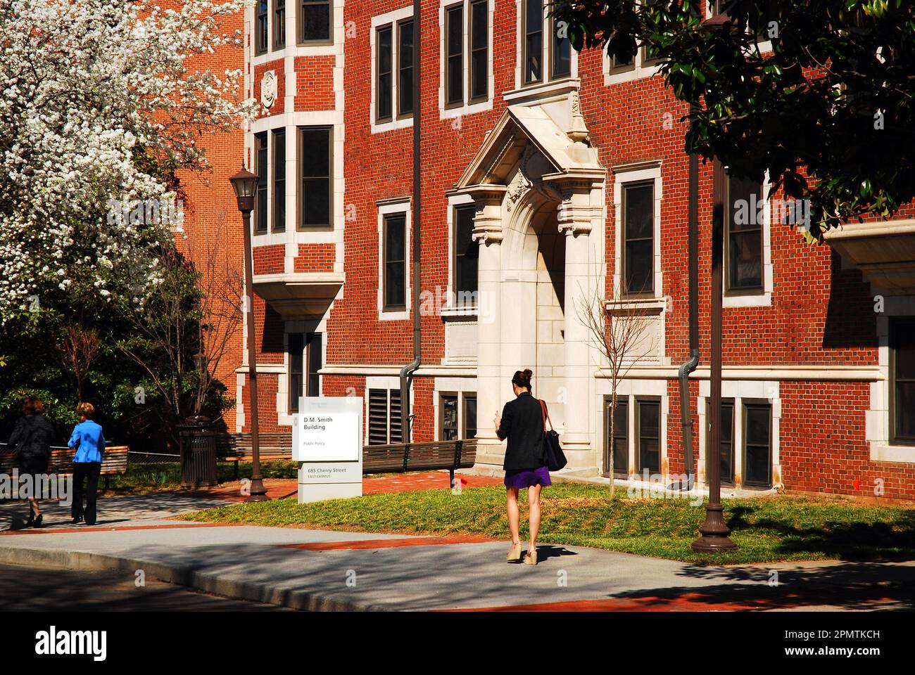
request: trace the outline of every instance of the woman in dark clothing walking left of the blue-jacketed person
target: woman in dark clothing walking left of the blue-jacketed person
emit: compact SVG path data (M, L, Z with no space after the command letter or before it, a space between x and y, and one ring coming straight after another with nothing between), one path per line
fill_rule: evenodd
M44 516L38 506L40 476L48 474L51 456L51 441L54 439L54 425L45 417L45 404L29 396L22 404L22 417L16 420L8 445L13 449L19 466L19 476L31 480L28 498L28 519L26 527L41 527Z

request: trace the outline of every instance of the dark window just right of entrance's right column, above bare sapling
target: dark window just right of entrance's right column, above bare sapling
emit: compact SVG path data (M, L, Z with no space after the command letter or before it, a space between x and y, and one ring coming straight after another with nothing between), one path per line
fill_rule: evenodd
M623 281L627 295L654 293L654 182L622 189Z

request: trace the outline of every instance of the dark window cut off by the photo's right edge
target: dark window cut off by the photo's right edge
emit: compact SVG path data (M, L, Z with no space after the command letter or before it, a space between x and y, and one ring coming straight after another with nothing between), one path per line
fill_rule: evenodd
M915 443L915 319L889 321L890 437Z

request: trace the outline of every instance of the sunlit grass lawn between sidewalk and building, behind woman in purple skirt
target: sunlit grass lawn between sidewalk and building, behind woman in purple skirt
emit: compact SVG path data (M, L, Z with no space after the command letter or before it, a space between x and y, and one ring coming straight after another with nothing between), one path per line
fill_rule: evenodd
M522 490L522 540L526 530ZM726 499L737 551L713 558L690 549L705 509L686 499L630 499L626 490L570 483L544 490L540 541L687 563L915 559L915 509L825 498ZM408 534L476 534L509 541L501 487L425 490L298 505L295 498L234 504L182 516L201 522Z

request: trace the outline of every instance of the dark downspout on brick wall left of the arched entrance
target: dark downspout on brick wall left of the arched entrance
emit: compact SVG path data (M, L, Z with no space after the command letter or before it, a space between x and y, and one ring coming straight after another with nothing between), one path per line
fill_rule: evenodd
M412 436L410 434L411 415L410 415L410 386L413 383L413 374L422 363L422 347L420 343L420 316L419 316L419 296L420 296L420 189L422 187L420 178L420 119L421 99L420 86L422 78L420 72L422 61L420 59L420 0L413 0L413 67L414 67L414 87L413 87L413 216L410 219L413 228L412 253L413 253L413 273L411 274L413 283L413 360L404 366L400 371L401 381L401 434L403 443L410 443Z

